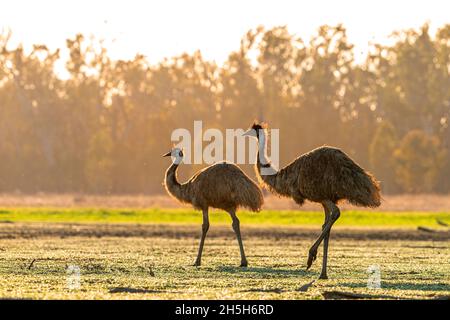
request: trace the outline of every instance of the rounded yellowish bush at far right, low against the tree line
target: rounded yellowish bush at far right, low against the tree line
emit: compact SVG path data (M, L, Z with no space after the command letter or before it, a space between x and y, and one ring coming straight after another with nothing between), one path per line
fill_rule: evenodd
M407 192L430 192L433 190L447 153L437 137L425 132L409 132L395 151L396 175Z

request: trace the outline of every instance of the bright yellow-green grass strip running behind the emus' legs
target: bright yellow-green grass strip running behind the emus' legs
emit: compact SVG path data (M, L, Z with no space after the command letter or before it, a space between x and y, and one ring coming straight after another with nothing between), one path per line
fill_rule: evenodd
M229 224L230 217L212 211L212 223ZM323 223L322 212L272 211L239 212L243 224L308 226ZM449 212L344 211L336 226L405 227L436 226L436 220L450 224ZM0 222L80 222L80 223L201 223L201 214L186 209L0 209Z

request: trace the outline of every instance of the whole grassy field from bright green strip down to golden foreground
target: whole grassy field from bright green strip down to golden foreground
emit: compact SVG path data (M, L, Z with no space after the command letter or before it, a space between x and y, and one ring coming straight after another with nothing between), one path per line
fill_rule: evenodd
M0 210L0 297L32 299L323 299L328 291L434 299L450 296L448 213L343 212L333 229L330 280L317 279L321 251L305 271L323 213L242 213L249 260L224 213L211 214L203 265L201 218L186 210ZM80 286L68 286L68 268ZM379 266L381 289L367 288Z

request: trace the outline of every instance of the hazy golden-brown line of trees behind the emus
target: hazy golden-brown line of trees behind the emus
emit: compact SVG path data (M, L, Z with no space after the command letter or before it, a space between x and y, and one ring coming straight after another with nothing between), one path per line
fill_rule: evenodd
M113 60L81 34L62 59L45 45L10 48L10 36L0 34L0 192L161 193L174 129L254 119L280 128L282 165L333 145L384 193L450 191L450 25L394 32L362 63L342 25L309 41L257 27L221 65L200 51Z

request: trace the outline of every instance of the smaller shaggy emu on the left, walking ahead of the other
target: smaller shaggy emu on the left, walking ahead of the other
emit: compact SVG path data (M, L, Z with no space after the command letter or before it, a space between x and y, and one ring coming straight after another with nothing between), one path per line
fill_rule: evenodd
M227 211L233 220L233 230L241 252L241 267L247 266L242 244L239 219L236 210L245 207L251 211L260 211L264 198L261 189L235 164L221 162L197 172L188 182L180 184L177 180L177 168L183 160L183 151L175 148L164 157L172 156L174 161L166 171L165 187L167 192L184 203L190 203L203 211L202 237L194 266L200 266L203 244L209 229L208 208Z

